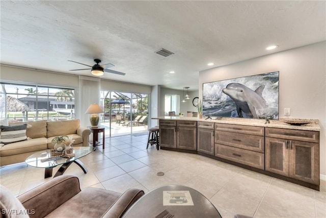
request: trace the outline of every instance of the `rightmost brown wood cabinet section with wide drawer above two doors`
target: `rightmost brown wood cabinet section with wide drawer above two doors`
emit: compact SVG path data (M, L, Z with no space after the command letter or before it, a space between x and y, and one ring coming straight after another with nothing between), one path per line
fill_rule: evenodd
M319 185L319 143L311 142L319 141L319 132L277 128L265 131L265 170Z

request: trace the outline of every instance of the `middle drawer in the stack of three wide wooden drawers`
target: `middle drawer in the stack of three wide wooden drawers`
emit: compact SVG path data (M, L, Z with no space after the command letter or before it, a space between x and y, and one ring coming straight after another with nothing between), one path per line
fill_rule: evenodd
M265 138L264 136L258 135L247 135L215 130L215 143L261 153L264 153L265 151Z

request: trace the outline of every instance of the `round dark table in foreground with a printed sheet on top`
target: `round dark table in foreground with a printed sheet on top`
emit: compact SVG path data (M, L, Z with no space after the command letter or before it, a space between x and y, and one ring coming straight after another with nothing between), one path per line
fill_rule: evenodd
M123 218L134 217L222 218L202 193L184 185L167 185L149 191L123 215Z

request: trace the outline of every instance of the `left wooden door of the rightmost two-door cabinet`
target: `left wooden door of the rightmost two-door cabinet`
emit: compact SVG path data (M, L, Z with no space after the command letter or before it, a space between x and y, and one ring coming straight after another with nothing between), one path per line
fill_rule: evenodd
M289 176L288 141L280 138L265 138L265 171Z

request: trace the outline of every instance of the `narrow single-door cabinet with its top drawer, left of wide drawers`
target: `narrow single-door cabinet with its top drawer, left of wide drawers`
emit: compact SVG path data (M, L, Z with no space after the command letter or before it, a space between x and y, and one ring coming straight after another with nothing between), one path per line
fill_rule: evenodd
M214 123L197 123L197 151L214 155Z

